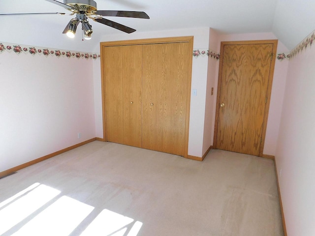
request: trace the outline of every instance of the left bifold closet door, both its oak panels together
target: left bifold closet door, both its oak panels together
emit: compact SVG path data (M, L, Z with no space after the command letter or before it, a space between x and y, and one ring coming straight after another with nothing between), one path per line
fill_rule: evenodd
M141 47L104 48L107 140L139 148L142 146Z

